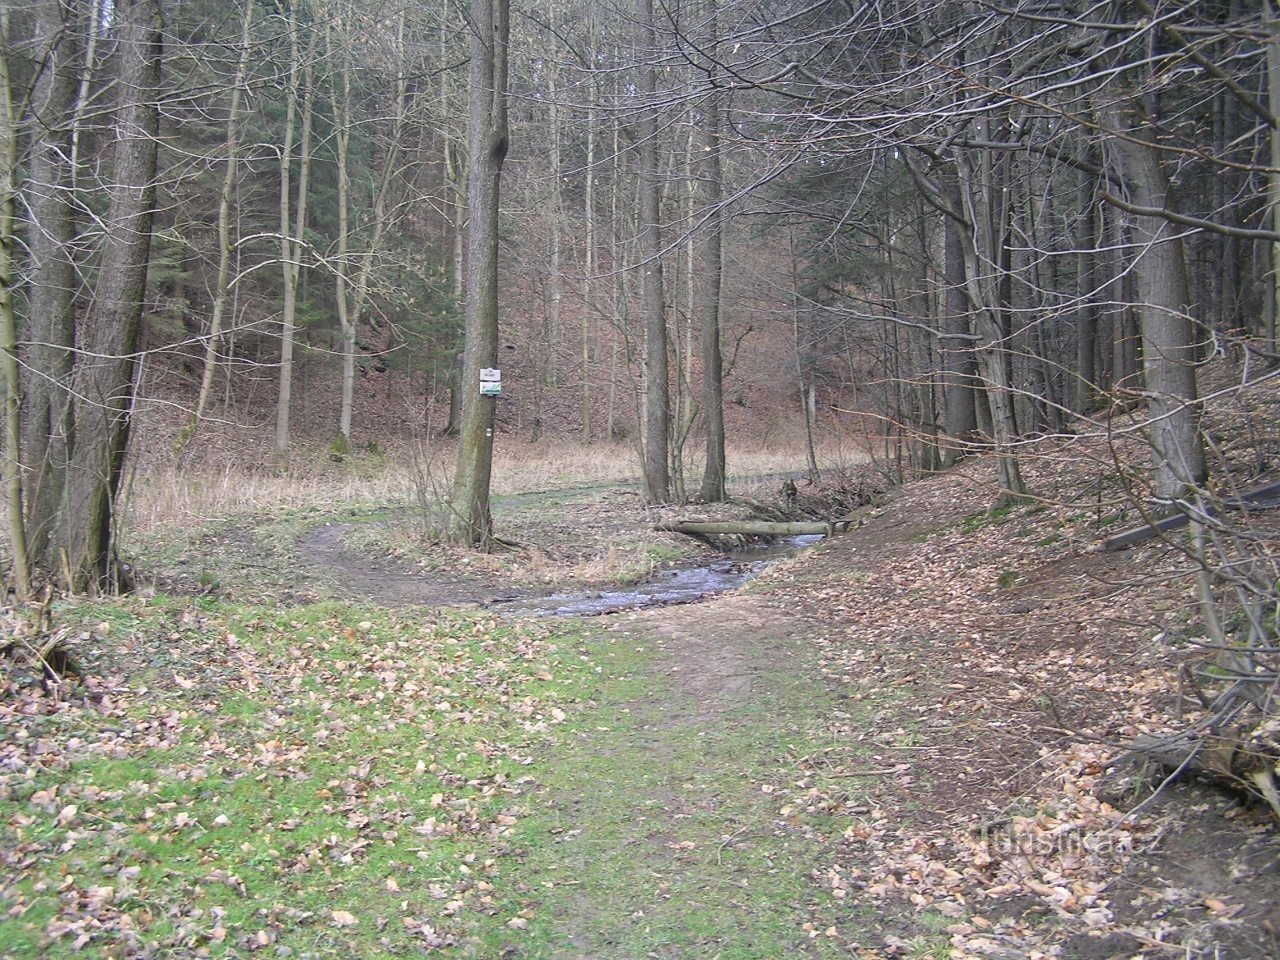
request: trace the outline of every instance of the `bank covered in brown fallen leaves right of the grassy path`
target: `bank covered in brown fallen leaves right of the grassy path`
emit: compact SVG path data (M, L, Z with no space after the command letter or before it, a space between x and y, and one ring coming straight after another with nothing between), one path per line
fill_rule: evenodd
M1158 777L1116 805L1096 796L1124 744L1199 709L1179 695L1204 655L1185 535L1101 552L1139 520L1107 492L1114 448L1030 452L1032 503L991 509L991 465L974 461L771 577L778 603L826 625L814 643L851 716L901 703L870 728L832 717L835 737L874 749L877 788L815 877L936 916L955 957L1275 956L1265 806ZM864 955L904 951L890 937Z

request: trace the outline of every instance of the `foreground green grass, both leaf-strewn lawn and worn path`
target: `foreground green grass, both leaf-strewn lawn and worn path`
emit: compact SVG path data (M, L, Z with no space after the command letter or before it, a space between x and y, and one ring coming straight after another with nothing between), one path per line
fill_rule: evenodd
M708 714L643 635L211 598L59 616L124 678L0 728L4 756L42 744L0 776L0 957L835 957L877 920L810 876L865 785L800 768L847 750L803 639Z

